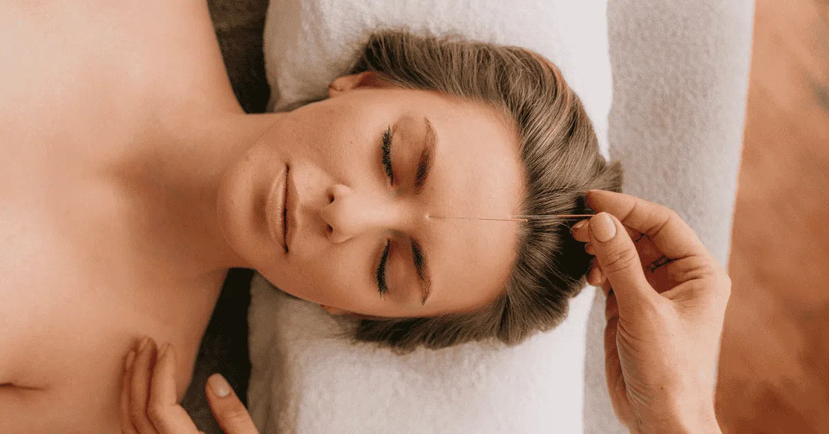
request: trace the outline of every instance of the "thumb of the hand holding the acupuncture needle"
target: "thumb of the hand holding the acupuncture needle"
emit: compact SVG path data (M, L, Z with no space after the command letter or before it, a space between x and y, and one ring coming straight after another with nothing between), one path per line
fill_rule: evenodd
M620 313L656 294L642 271L636 245L618 218L608 212L590 217L589 235L596 261L613 288Z

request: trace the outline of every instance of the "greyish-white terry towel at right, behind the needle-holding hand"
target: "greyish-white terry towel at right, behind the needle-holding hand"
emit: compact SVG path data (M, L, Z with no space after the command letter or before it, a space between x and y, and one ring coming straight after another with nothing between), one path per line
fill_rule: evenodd
M750 0L610 0L610 154L626 193L671 207L725 265L743 143ZM584 432L622 433L604 377L604 295L590 312Z

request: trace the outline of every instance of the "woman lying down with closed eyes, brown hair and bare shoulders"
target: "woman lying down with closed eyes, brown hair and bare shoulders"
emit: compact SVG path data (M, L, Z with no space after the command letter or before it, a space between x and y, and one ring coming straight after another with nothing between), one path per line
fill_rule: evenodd
M572 221L435 218L619 190L549 61L378 32L326 100L246 115L205 2L83 4L0 5L0 432L119 432L143 336L181 397L230 267L401 351L565 318Z

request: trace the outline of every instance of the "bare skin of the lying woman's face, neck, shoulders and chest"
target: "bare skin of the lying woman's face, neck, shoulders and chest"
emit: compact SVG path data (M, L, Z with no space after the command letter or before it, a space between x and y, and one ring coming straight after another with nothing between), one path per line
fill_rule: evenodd
M358 75L246 115L203 0L2 2L0 26L0 432L119 432L142 336L175 347L180 397L230 267L372 316L472 310L502 290L514 225L426 218L516 211L515 134L493 110ZM427 116L439 139L415 188ZM262 204L288 163L289 252Z

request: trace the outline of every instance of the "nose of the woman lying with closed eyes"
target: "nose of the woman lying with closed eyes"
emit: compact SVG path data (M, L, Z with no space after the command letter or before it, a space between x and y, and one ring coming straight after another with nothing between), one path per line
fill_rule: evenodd
M328 204L320 216L332 242L343 242L365 232L399 226L399 212L389 199L358 193L342 184L328 188Z

